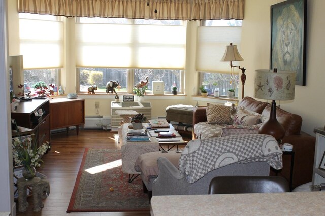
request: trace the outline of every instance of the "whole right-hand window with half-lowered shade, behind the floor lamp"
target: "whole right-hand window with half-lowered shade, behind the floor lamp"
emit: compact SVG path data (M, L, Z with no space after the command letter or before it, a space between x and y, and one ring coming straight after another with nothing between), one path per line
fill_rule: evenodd
M240 50L242 20L206 20L201 21L197 32L196 70L199 72L199 84L204 85L213 95L216 87L219 95L228 97L228 89L235 88L238 97L239 70L221 62L226 45L232 42Z

